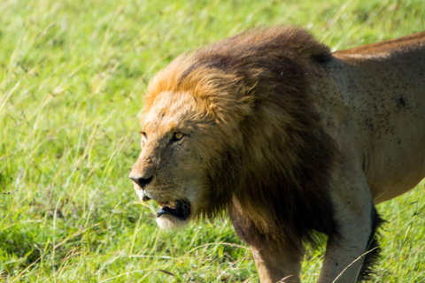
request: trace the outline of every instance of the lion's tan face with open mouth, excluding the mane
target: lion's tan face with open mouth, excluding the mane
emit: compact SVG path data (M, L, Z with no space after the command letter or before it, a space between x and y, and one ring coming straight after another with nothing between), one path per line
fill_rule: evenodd
M144 113L142 152L130 172L135 192L160 206L157 222L174 230L202 213L211 199L211 152L218 131L186 94L163 93Z

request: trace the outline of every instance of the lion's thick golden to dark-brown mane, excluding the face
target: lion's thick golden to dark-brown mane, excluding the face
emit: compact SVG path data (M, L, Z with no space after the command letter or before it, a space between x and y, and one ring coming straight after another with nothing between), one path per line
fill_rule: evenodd
M251 244L280 238L300 249L313 231L337 233L328 193L337 149L307 76L329 57L305 31L275 27L183 54L151 80L145 111L161 92L188 92L199 104L192 119L220 126L202 214L228 211Z

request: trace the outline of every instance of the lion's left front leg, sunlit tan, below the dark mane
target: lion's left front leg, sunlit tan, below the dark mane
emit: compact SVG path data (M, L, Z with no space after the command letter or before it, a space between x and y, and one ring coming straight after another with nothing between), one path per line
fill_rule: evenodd
M273 249L266 245L252 247L252 255L261 283L300 283L302 252L294 249Z

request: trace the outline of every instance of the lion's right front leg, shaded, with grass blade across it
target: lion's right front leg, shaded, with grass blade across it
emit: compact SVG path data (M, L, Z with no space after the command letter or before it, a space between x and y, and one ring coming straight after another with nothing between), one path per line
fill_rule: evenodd
M366 178L361 171L347 170L336 178L333 191L338 235L328 239L317 283L354 283L362 279L378 252L376 213ZM335 184L334 184L335 185Z

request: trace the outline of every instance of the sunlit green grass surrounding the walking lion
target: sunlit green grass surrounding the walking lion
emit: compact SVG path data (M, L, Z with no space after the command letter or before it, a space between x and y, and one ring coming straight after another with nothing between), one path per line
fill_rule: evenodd
M418 32L423 0L0 1L0 281L258 282L227 220L159 233L128 181L153 73L248 27L332 49ZM425 281L421 189L380 205L375 282ZM303 279L320 271L307 251Z

